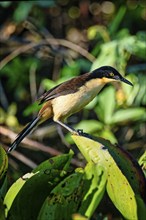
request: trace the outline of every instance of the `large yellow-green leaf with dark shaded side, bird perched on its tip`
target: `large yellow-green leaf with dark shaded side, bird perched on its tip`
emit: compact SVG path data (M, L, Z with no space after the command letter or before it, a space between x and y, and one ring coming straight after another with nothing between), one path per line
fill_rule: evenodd
M107 170L107 192L122 215L127 219L138 219L139 204L135 197L145 196L145 180L136 161L104 139L75 135L72 138L87 161ZM142 199L141 202L140 206L144 207Z

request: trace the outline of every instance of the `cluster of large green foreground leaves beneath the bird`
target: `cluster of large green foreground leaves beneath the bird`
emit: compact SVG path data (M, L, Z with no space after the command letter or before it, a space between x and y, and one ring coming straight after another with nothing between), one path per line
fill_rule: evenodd
M72 219L74 213L91 218L106 190L126 219L144 219L145 179L138 163L104 139L72 138L88 161L86 167L71 170L72 152L42 162L9 188L7 218Z

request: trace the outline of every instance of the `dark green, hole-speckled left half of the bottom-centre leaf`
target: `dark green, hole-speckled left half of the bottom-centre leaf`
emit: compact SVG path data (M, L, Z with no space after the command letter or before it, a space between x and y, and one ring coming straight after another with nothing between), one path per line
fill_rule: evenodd
M84 172L75 172L61 181L46 198L37 220L71 219L81 202Z

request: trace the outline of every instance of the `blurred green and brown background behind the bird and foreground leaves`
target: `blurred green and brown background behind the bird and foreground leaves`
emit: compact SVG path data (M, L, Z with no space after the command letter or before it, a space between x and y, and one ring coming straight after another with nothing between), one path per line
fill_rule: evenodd
M68 124L119 143L139 159L146 133L145 21L145 1L0 2L2 146L7 149L35 117L35 101L45 90L111 65L134 87L107 85ZM10 180L52 155L68 152L68 147L75 152L73 164L83 165L67 131L52 121L44 123L9 156Z

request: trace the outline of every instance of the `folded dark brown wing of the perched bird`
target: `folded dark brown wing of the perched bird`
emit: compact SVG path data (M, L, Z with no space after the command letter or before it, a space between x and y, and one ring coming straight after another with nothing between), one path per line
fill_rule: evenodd
M75 93L81 86L85 84L85 82L88 80L88 77L89 73L86 73L55 86L54 88L45 92L38 99L38 101L40 102L39 104L42 104L61 95Z

